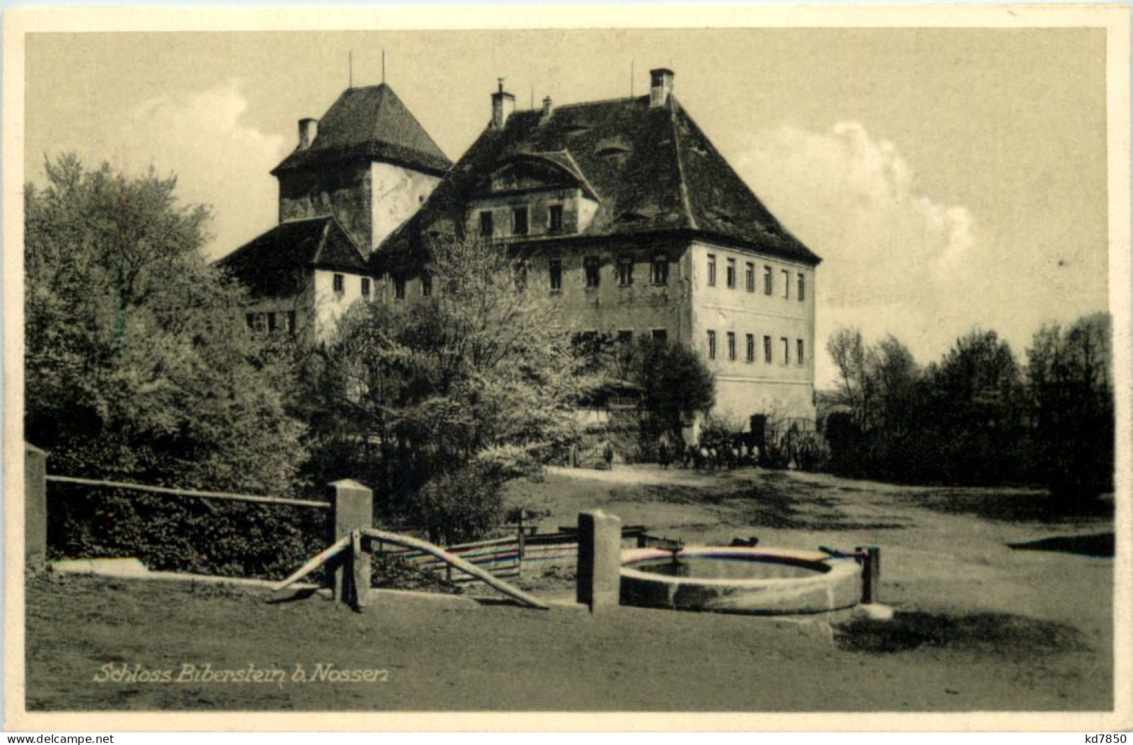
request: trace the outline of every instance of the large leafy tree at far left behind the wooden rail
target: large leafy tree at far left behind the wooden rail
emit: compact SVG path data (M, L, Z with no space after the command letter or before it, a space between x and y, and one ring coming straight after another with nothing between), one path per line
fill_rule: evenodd
M287 493L301 425L174 177L73 155L25 189L25 436L56 472Z

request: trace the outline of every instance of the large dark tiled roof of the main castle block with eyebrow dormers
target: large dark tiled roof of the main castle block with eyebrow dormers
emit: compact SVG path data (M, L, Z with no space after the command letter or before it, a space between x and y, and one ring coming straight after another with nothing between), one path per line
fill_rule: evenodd
M513 113L503 129L480 135L372 260L383 266L420 256L421 234L463 224L484 175L518 156L577 170L597 194L598 209L583 237L680 231L809 264L821 260L780 224L673 96L657 108L649 106L649 96L564 105L546 121L539 111Z

